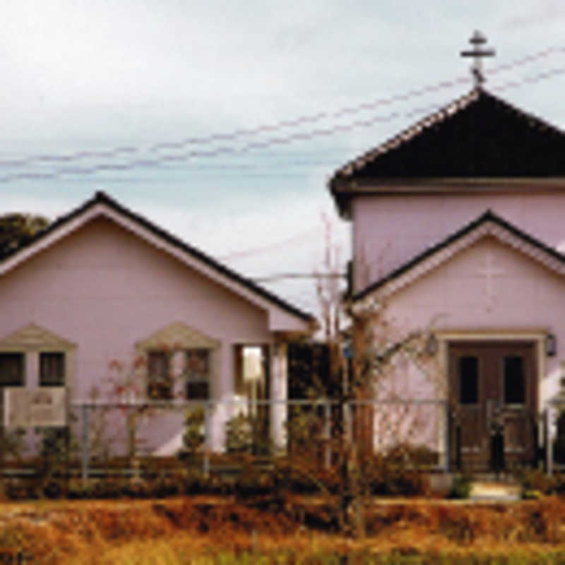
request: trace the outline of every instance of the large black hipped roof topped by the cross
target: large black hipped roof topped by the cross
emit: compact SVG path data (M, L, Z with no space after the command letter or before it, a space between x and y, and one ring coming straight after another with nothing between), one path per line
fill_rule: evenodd
M347 162L329 187L343 214L360 186L539 177L565 177L565 132L476 87Z

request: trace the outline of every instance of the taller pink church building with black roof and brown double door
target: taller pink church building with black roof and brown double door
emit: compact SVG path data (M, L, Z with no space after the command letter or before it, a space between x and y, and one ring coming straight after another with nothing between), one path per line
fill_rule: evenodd
M409 371L403 389L448 403L429 446L451 469L535 463L564 376L565 133L478 83L329 188L354 307L385 302L394 326L430 333L434 386Z

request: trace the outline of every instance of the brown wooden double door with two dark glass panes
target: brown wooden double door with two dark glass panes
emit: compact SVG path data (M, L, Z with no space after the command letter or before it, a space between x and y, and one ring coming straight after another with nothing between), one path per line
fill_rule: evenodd
M529 465L537 449L533 342L448 346L451 468L484 472Z

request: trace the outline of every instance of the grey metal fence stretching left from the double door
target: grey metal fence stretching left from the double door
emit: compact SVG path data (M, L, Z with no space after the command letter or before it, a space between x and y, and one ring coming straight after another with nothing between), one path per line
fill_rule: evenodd
M301 448L309 456L315 455L319 465L327 469L343 441L355 441L369 451L386 452L399 444L410 446L419 458L407 464L448 469L445 400L73 402L67 436L59 439L72 452L71 469L80 472L84 480L107 472L108 460L124 461L115 472L143 472L132 468L131 461L158 461L159 456L186 452L186 416L198 410L201 424L196 420L195 428L192 422L191 431L194 434L196 429L202 442L193 459L204 475L220 465L222 453L246 451L270 458Z

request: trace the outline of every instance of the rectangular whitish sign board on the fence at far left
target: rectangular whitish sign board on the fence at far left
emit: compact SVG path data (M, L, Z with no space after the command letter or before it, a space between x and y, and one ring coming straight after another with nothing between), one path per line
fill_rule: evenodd
M66 389L62 386L4 388L4 426L66 426Z

